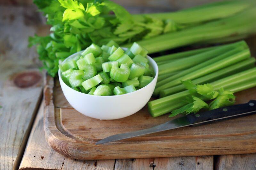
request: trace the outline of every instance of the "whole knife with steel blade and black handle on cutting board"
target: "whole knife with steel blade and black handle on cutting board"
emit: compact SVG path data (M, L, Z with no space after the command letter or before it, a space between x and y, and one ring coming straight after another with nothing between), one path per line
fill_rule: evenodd
M248 103L245 103L245 104L227 106L227 107L210 110L203 113L189 114L185 117L176 118L164 124L159 124L157 126L154 126L148 129L112 135L107 138L101 139L96 143L96 145L104 144L108 142L114 142L117 140L122 140L127 138L132 138L136 136L146 135L150 133L176 129L176 128L185 127L185 126L203 124L206 122L212 122L220 119L245 116L245 115L254 114L254 113L256 113L256 100L250 100Z

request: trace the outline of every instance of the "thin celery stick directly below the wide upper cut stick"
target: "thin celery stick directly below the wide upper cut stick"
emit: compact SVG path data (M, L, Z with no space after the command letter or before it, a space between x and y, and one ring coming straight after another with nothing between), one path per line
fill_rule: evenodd
M175 75L173 75L173 76L171 76L171 77L169 77L169 78L166 78L166 79L164 79L164 80L162 80L162 81L159 81L159 82L157 82L157 84L156 84L156 88L157 88L157 87L160 87L160 86L162 86L162 85L164 85L164 84L166 84L166 83L168 83L168 82L170 82L170 81L173 81L173 80L175 80L175 79L177 79L177 78L179 78L179 77L181 77L181 76L184 76L184 75L186 75L186 74L188 74L188 73L191 73L191 72L196 71L196 70L198 70L198 69L200 69L200 68L203 68L203 67L205 67L205 66L208 66L208 65L210 65L210 64L212 64L212 63L214 63L214 62L216 62L216 61L222 60L222 59L227 58L227 57L229 57L229 56L231 56L231 55L233 55L233 54L236 54L236 53L238 53L238 52L241 52L244 48L245 48L245 47L243 47L243 46L238 46L238 47L236 47L236 48L234 48L234 49L228 50L227 52L224 52L224 53L222 53L222 54L220 54L220 55L217 55L216 57L213 57L213 58L210 59L210 60L206 60L206 61L202 62L201 64L198 64L198 65L196 65L196 66L194 66L194 67L190 67L190 68L188 68L188 69L186 69L186 70L184 70L184 71L181 71L181 72L178 73L178 74L175 74ZM246 49L248 49L248 48L246 47Z

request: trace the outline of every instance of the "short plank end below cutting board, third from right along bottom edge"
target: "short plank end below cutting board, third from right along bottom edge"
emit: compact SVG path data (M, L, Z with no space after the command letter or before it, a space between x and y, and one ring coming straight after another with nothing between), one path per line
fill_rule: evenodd
M115 170L122 169L153 169L154 158L116 159Z

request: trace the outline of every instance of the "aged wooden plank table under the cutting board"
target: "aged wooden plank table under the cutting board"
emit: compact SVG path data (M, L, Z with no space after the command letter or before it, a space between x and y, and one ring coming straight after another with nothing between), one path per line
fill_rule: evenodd
M28 36L48 33L42 23L33 6L0 6L0 169L256 169L256 153L88 161L53 151L43 131L44 73L27 48ZM256 38L248 42L255 47Z

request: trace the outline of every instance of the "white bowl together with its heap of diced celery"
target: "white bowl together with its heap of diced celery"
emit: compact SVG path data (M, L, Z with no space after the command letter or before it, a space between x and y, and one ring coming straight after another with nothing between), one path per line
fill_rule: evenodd
M147 53L136 42L129 49L114 41L101 47L92 44L59 65L64 96L93 118L117 119L139 111L152 96L158 75Z

